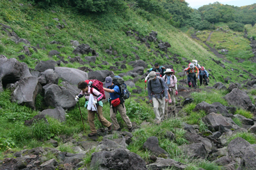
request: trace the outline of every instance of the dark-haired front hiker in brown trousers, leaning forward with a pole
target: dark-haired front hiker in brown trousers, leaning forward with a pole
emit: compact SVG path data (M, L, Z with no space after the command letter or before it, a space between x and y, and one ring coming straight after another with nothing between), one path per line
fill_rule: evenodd
M78 87L78 89L81 89L80 94L78 96L76 96L76 98L75 98L75 100L77 102L79 101L79 98L84 96L85 99L86 99L84 107L85 108L87 107L87 109L90 107L90 105L89 105L90 102L93 102L93 106L91 106L90 110L88 110L88 122L89 122L89 125L90 125L90 129L92 131L90 134L88 134L88 136L89 137L97 136L97 131L95 129L95 124L94 124L95 114L97 115L98 120L100 122L102 122L102 124L105 127L108 127L108 131L111 132L112 131L112 124L108 120L106 120L106 118L104 118L103 115L102 115L103 103L102 103L102 101L100 101L100 99L102 99L103 94L100 93L95 88L91 89L91 87L88 86L88 84L85 81L79 82L77 87ZM91 99L93 101L89 100L91 95L93 96L93 98L91 97ZM93 109L93 107L95 107L95 106L97 106L97 110Z

